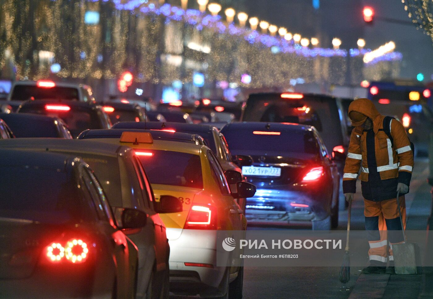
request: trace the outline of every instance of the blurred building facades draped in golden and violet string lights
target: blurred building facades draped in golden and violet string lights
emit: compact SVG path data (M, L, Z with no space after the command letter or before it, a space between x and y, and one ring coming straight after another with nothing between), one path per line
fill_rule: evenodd
M305 1L292 2L294 9L287 15L296 23L301 16L295 12ZM365 64L366 49L333 49L325 42L330 39L328 33L320 30L332 20L314 7L303 15L317 15L304 32L317 36L324 45L301 46L278 33L271 36L237 22L227 23L222 12L216 16L202 13L192 0L187 10L181 9L180 0L3 3L0 78L86 82L100 98L140 94L164 101L234 99L242 90L290 90L306 83L318 84L326 92L331 84L359 85L362 80L395 78L401 61L401 55L393 52ZM246 8L245 1L221 3ZM352 45L353 40L343 39L343 43ZM134 79L121 92L117 81L124 71L130 71Z

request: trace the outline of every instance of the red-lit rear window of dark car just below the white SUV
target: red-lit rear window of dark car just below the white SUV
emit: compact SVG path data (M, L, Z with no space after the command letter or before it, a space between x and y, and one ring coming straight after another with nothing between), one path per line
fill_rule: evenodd
M87 129L105 129L97 116L97 111L89 108L71 107L69 111L55 111L46 110L45 105L42 107L24 105L19 112L59 117L68 125L73 137L77 137Z

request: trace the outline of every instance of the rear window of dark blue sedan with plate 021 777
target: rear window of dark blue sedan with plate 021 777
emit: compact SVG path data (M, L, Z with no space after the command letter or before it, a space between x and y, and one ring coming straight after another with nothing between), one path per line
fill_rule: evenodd
M222 131L231 152L260 151L262 154L281 153L281 156L287 153L316 155L319 152L317 140L310 130L283 131L271 129L263 132L275 133L275 135L264 135L262 132L262 130L246 128L229 128L229 130L223 129Z

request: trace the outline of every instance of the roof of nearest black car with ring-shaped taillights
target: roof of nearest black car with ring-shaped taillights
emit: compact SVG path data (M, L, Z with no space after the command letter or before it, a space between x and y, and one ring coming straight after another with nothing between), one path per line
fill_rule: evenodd
M6 139L0 142L3 141ZM71 155L0 148L0 166L38 167L66 172L68 164L72 161L74 156Z

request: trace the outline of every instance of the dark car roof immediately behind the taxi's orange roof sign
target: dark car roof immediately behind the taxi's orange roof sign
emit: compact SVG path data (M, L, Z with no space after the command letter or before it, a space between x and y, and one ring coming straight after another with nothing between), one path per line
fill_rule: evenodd
M95 138L116 138L120 139L123 132L148 132L152 134L154 140L171 140L185 143L196 143L199 136L187 133L172 133L161 130L137 130L137 129L101 129L85 130L78 136L78 139L95 139ZM200 137L201 138L201 137Z

